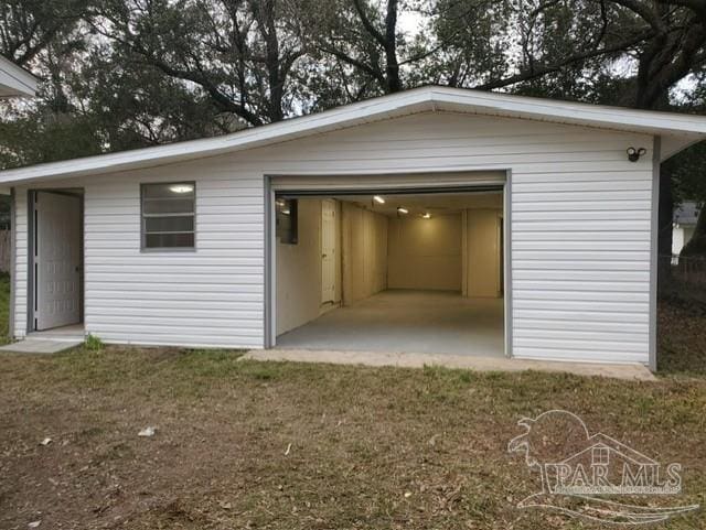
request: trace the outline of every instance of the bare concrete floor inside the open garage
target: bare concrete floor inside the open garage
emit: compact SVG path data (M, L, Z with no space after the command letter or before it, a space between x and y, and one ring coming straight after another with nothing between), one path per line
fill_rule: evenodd
M502 299L391 290L277 337L277 348L504 357Z

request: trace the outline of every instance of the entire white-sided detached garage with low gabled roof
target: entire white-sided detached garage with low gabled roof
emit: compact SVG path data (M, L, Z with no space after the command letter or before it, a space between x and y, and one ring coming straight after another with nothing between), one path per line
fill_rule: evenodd
M654 367L660 162L704 138L425 87L6 171L12 332Z

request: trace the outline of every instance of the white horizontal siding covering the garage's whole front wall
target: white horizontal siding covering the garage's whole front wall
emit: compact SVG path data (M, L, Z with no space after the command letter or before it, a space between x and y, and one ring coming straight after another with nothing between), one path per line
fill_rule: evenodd
M652 153L631 163L630 145L651 151L652 138L438 112L86 177L86 328L109 342L263 346L264 175L429 172L435 183L510 170L513 354L646 363ZM197 251L141 253L139 184L185 179L197 186ZM19 193L19 283L25 228Z

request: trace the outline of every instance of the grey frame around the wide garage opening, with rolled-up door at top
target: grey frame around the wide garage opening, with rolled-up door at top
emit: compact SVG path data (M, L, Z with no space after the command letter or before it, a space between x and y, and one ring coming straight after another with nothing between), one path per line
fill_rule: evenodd
M493 190L503 192L503 316L504 316L504 344L505 357L512 357L512 245L511 245L511 193L512 170L510 169L479 169L469 167L453 172L438 172L434 176L430 171L405 172L404 174L365 173L366 182L361 183L356 179L360 174L288 174L267 173L264 175L264 212L265 212L265 285L264 285L264 340L266 349L274 348L277 344L277 239L276 239L276 208L275 201L278 195L287 197L325 197L330 195L361 195L385 194L404 195L418 193L462 193ZM473 174L488 175L493 173L503 175L496 177L479 179ZM464 180L462 176L467 175ZM406 182L396 184L395 177L409 175ZM445 179L449 175L449 179ZM286 179L286 184L281 180ZM335 179L335 184L331 184ZM389 179L386 182L386 179ZM371 180L374 180L371 181ZM319 183L317 182L319 181ZM357 181L357 182L356 182ZM436 182L435 182L436 181ZM434 183L430 183L434 182Z

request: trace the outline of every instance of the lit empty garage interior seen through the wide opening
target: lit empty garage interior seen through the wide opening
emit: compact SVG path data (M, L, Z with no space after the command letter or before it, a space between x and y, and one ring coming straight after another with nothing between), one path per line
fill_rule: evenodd
M282 192L275 217L276 347L505 355L502 187Z

